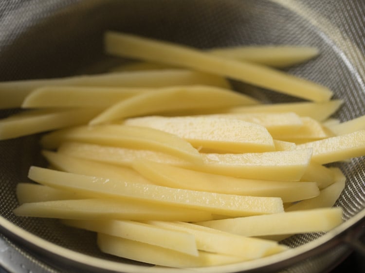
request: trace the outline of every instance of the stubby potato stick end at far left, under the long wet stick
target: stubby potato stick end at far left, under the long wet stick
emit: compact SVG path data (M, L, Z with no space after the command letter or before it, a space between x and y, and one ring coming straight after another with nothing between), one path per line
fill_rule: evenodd
M33 203L67 199L85 199L88 196L71 190L51 188L33 183L18 183L16 189L18 203Z

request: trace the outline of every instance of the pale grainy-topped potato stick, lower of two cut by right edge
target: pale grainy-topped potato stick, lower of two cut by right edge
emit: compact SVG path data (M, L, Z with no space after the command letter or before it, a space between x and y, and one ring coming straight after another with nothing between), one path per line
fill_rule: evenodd
M312 160L319 164L365 155L365 130L299 144L296 149L312 148Z

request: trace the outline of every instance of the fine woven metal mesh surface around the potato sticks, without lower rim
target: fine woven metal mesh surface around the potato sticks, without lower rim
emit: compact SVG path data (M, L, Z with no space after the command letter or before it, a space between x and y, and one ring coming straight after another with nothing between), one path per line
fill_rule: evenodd
M283 5L281 5L283 3ZM362 1L264 0L28 0L0 2L0 80L62 77L107 71L121 60L105 56L102 34L117 30L173 41L198 48L254 44L293 44L318 47L321 55L289 73L327 85L334 98L345 100L336 114L341 120L365 114L364 24ZM329 24L330 23L330 24ZM294 101L234 82L238 91L268 102ZM252 91L254 90L254 92ZM6 117L14 109L1 111ZM55 220L18 218L15 187L26 181L30 165L44 166L39 136L0 142L0 214L55 244L106 259L95 246L93 233L60 226ZM347 186L336 205L345 220L365 206L365 161L340 165ZM318 234L294 236L290 246L307 243ZM83 240L77 240L83 238ZM344 249L291 265L283 272L320 272L338 260ZM127 263L131 261L124 260Z

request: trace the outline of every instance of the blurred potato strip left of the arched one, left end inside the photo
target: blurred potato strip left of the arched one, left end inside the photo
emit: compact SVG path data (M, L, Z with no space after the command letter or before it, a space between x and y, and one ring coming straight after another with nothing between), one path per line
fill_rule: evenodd
M115 102L154 89L138 87L46 86L30 92L22 108L108 107Z

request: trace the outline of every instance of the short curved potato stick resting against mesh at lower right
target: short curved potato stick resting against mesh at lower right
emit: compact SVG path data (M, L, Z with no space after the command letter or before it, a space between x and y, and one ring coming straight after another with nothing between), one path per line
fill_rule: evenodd
M319 195L293 204L286 211L305 210L333 206L345 188L346 177L338 168L330 168L334 172L334 183L323 188Z

